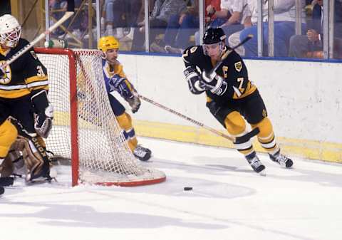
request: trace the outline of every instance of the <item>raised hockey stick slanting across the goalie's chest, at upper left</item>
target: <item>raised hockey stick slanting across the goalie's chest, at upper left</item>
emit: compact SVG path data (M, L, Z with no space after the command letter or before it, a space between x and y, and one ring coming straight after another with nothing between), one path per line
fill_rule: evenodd
M58 28L58 26L61 26L61 24L63 24L63 22L68 20L73 15L74 6L75 6L74 1L68 0L68 11L66 11L66 13L61 17L61 19L56 21L56 23L53 24L50 28L48 28L48 30L46 30L45 32L41 33L41 35L39 35L38 37L33 39L33 41L31 41L31 43L28 43L26 46L24 46L24 48L21 48L21 50L19 50L16 54L14 54L14 56L11 56L11 58L9 58L9 60L7 60L4 63L4 65L1 66L1 68L6 68L6 66L9 66L9 64L13 63L14 61L16 61L16 59L18 59L20 56L22 56L24 53L26 53L28 51L28 49L30 49L34 45L36 45L36 43L38 43L38 41L41 41L43 38L46 37L46 35L48 35L53 30Z

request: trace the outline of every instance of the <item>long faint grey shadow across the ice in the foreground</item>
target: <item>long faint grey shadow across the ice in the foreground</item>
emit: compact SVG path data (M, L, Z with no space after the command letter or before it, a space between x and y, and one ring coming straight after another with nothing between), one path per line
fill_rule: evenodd
M108 201L115 199L108 199ZM74 204L42 204L15 202L11 204L37 207L41 211L22 214L0 214L13 219L40 219L39 224L63 227L103 228L103 229L155 229L163 226L180 226L192 229L227 229L227 224L209 224L183 221L181 218L129 212L98 212L93 207ZM148 220L147 220L148 219Z

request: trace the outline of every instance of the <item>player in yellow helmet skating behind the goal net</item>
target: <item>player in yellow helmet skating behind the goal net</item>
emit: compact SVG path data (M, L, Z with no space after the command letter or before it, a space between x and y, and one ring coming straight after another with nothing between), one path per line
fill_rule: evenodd
M128 141L128 146L133 155L141 161L147 161L151 157L151 151L138 145L132 118L125 111L125 107L111 94L117 91L125 99L132 112L136 113L140 108L140 99L132 83L123 72L123 65L118 61L119 42L113 36L103 36L98 41L98 49L103 52L103 76L105 88L107 89L110 106L112 107L118 124L123 129L123 135Z

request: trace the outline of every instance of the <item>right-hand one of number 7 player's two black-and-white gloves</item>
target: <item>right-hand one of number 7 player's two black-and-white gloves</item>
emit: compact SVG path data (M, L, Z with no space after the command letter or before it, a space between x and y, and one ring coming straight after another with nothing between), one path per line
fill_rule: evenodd
M215 71L210 74L203 71L202 82L204 88L210 90L210 92L216 95L223 95L228 88L228 84L224 81L224 78L218 75Z

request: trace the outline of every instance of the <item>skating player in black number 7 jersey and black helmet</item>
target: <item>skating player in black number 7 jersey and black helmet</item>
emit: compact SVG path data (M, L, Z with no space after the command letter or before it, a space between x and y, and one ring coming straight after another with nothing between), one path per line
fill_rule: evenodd
M232 51L211 73L223 54L231 50L225 46L225 38L222 28L208 28L202 46L185 49L182 58L190 92L207 94L207 108L230 135L238 137L246 134L245 120L253 129L259 127L257 138L270 159L281 166L291 167L292 160L280 153L264 101L256 85L249 80L247 68L239 54ZM264 171L265 166L257 157L251 140L234 142L234 147L246 157L255 172Z

